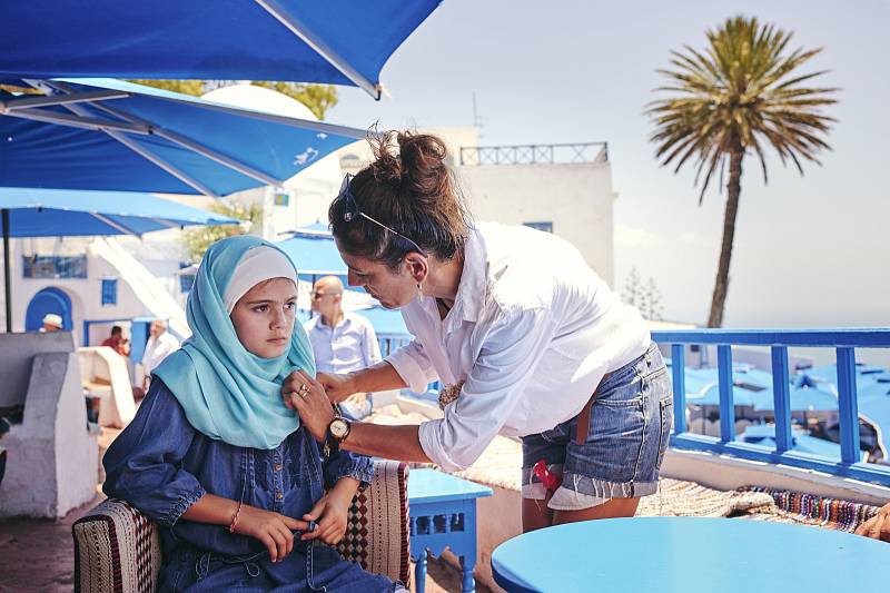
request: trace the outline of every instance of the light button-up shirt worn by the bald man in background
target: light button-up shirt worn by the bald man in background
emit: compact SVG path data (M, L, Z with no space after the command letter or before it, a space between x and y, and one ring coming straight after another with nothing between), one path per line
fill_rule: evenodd
M358 314L344 313L336 327L325 325L316 315L303 327L313 345L315 366L322 373L349 373L382 359L374 326Z

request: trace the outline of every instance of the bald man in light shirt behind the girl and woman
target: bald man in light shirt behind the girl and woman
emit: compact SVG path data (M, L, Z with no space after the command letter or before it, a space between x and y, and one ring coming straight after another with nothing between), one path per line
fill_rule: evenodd
M304 327L315 352L315 364L322 373L349 373L380 362L380 346L370 322L343 310L343 283L325 276L313 288L315 317ZM362 419L373 408L370 394L355 394L344 402L346 411Z

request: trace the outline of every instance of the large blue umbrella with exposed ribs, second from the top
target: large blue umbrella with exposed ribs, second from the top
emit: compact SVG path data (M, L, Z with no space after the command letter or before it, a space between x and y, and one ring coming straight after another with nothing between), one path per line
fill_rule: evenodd
M225 196L366 136L118 80L19 83L47 96L0 90L0 187Z

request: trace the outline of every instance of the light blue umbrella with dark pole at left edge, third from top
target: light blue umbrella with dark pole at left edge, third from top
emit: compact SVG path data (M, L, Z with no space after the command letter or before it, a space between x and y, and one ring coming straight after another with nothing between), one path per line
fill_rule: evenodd
M70 191L0 187L7 332L12 330L9 239L142 235L192 225L236 225L239 220L147 194Z

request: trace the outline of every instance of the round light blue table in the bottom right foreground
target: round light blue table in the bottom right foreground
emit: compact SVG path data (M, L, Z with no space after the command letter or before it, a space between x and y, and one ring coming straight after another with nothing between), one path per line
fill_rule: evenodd
M612 518L513 537L492 571L510 592L888 593L890 543L740 518Z

